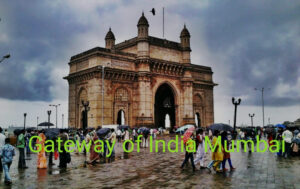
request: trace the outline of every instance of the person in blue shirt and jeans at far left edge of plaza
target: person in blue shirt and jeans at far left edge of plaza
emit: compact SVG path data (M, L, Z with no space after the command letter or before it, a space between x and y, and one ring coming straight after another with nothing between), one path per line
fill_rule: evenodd
M6 138L5 145L0 149L0 157L2 161L4 174L5 174L4 183L7 185L10 185L12 183L9 174L9 169L14 156L15 156L15 149L10 144L10 138Z

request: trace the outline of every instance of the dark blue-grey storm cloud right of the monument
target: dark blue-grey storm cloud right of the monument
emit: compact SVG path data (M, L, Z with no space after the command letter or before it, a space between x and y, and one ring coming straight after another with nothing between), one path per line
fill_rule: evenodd
M265 93L267 105L299 104L295 88L300 77L299 1L219 0L177 11L199 23L209 51L224 57L215 64L230 69L233 88L227 95L248 96L245 104L258 105L261 96L253 89L265 87L271 88ZM280 83L292 90L278 95Z

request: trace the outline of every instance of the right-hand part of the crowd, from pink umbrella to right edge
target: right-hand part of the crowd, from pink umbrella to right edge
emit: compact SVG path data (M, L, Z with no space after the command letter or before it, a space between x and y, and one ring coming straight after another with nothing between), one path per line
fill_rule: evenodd
M204 158L205 158L205 142L204 138L208 136L211 140L212 146L216 148L213 152L211 152L211 161L208 163L207 166L204 165ZM221 136L221 145L217 145L217 139ZM200 169L209 169L213 168L216 172L222 173L228 171L226 168L226 162L229 164L230 171L235 170L230 158L230 149L231 149L231 142L233 138L239 140L251 140L254 144L256 144L256 137L258 136L259 139L265 137L268 140L269 146L273 145L272 140L277 140L280 143L280 149L276 153L279 157L289 158L291 156L299 156L300 155L300 132L297 128L242 128L237 129L237 132L229 132L229 131L219 131L219 130L203 130L202 128L196 129L196 134L193 134L189 140L194 140L195 143L187 141L185 143L186 149L189 149L185 153L185 159L182 162L181 168L184 168L187 165L187 162L190 160L192 169L195 171L196 166L198 163L200 164ZM284 150L282 149L283 145L282 142L284 141ZM229 144L229 145L225 145ZM194 144L196 144L197 152L190 152L194 148ZM247 143L249 153L251 153L250 144ZM225 150L225 147L227 150ZM241 146L244 148L244 146ZM219 150L221 148L221 150ZM194 158L195 154L195 158Z

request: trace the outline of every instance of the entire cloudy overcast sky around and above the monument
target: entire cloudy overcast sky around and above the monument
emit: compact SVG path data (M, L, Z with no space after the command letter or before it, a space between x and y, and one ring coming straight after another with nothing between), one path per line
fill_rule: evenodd
M157 15L152 16L151 8ZM242 98L239 124L262 124L265 91L266 123L300 117L300 1L285 0L66 0L0 3L0 125L28 125L47 119L49 103L61 103L67 124L68 74L72 55L104 46L111 27L116 42L137 34L145 11L152 36L179 41L186 23L191 33L192 63L211 66L215 88L215 121L233 119L231 97ZM52 121L54 120L54 109Z

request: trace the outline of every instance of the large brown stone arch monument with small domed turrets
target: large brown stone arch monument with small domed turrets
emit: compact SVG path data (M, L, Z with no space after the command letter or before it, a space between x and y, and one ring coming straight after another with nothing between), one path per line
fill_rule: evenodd
M171 128L212 124L213 72L210 67L191 64L186 26L180 43L149 36L144 13L137 30L137 37L115 44L109 29L105 48L71 57L70 73L65 77L69 83L69 126L158 128L167 126L166 118Z

